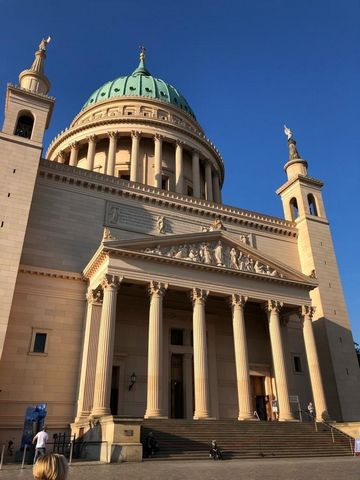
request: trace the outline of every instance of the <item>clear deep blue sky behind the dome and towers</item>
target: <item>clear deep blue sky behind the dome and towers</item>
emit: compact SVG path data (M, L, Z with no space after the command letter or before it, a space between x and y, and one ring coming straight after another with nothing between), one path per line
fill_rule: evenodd
M51 35L57 102L45 149L100 85L150 72L187 98L226 167L223 200L282 216L286 123L324 181L354 338L360 342L360 2L358 0L0 0L0 91ZM3 109L1 109L3 111Z

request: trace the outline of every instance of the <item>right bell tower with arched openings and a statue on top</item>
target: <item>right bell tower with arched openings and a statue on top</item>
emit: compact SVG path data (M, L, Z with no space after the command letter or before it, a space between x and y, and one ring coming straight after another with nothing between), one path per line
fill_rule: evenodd
M302 272L319 282L310 296L316 308L313 327L329 414L333 420L359 420L359 366L322 198L323 183L309 177L308 164L300 157L287 127L285 134L288 180L276 193L283 202L285 219L295 222L298 230Z

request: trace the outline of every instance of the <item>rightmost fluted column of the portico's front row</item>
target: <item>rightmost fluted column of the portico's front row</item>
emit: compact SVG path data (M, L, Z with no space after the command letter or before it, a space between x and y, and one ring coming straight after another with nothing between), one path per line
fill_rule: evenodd
M308 305L301 307L301 318L303 321L303 334L306 350L306 358L310 373L311 389L313 392L316 420L322 421L323 413L327 414L327 405L324 394L323 383L321 379L319 359L316 350L314 331L312 326L312 317L315 309Z

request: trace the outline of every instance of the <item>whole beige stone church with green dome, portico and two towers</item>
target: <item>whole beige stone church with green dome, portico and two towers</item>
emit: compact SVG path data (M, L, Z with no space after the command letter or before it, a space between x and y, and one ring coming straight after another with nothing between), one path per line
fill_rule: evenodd
M223 204L219 150L143 50L45 153L48 41L0 131L0 440L39 403L50 430L110 443L124 419L296 421L310 400L359 420L323 183L292 132L284 218Z

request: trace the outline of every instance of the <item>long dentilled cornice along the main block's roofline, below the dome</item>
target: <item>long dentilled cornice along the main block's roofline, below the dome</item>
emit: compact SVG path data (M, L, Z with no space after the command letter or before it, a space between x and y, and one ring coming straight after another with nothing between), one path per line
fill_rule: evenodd
M258 231L266 231L285 237L297 237L296 224L288 220L249 210L241 210L208 200L188 197L180 193L161 190L142 183L130 182L49 160L40 160L38 175L47 181L73 185L93 192L102 192L115 198L137 198L145 203L178 211L182 210L213 220L221 215L224 221L243 227L254 228Z

